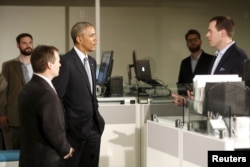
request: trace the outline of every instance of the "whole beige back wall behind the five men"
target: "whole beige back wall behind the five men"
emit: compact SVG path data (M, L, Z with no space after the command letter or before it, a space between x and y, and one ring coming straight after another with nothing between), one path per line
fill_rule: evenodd
M216 6L216 5L214 5ZM132 51L138 59L150 59L153 78L166 84L177 81L181 59L189 55L184 35L190 28L200 31L203 49L213 54L205 33L208 20L216 15L229 15L236 22L235 40L250 55L249 9L244 6L219 8L192 7L101 7L101 52L114 50L113 76L122 75L127 81L127 65L132 63ZM65 21L69 19L69 25ZM15 37L29 32L34 44L51 44L61 53L72 47L66 27L77 21L95 21L94 7L25 7L0 6L0 67L3 61L18 55ZM70 48L66 48L67 44ZM95 57L95 53L91 54Z

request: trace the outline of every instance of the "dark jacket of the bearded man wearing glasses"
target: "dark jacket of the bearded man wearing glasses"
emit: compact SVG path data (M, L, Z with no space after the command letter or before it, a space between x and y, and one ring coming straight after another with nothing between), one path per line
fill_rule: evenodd
M189 56L183 59L180 66L178 84L193 83L193 78L195 75L208 74L208 70L213 58L214 56L203 51L194 72L192 71L191 57Z

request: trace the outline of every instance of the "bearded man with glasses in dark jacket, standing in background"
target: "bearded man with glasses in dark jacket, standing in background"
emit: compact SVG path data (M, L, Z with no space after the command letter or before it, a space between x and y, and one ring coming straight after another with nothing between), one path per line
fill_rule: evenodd
M185 35L186 45L191 55L181 61L178 77L178 94L186 95L195 75L208 74L214 56L201 49L202 40L197 30L191 29Z

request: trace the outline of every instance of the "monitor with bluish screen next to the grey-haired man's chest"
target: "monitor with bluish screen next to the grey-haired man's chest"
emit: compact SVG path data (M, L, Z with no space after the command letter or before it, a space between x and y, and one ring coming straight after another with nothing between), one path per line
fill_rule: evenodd
M113 51L106 51L102 53L101 64L97 77L98 85L105 85L110 79L113 67Z

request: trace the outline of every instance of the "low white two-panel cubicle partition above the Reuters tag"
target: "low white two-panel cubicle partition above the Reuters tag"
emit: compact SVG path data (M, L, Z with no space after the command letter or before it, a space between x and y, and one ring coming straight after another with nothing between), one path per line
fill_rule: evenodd
M206 167L209 150L250 149L250 138L219 139L176 128L171 119L147 122L147 167Z

